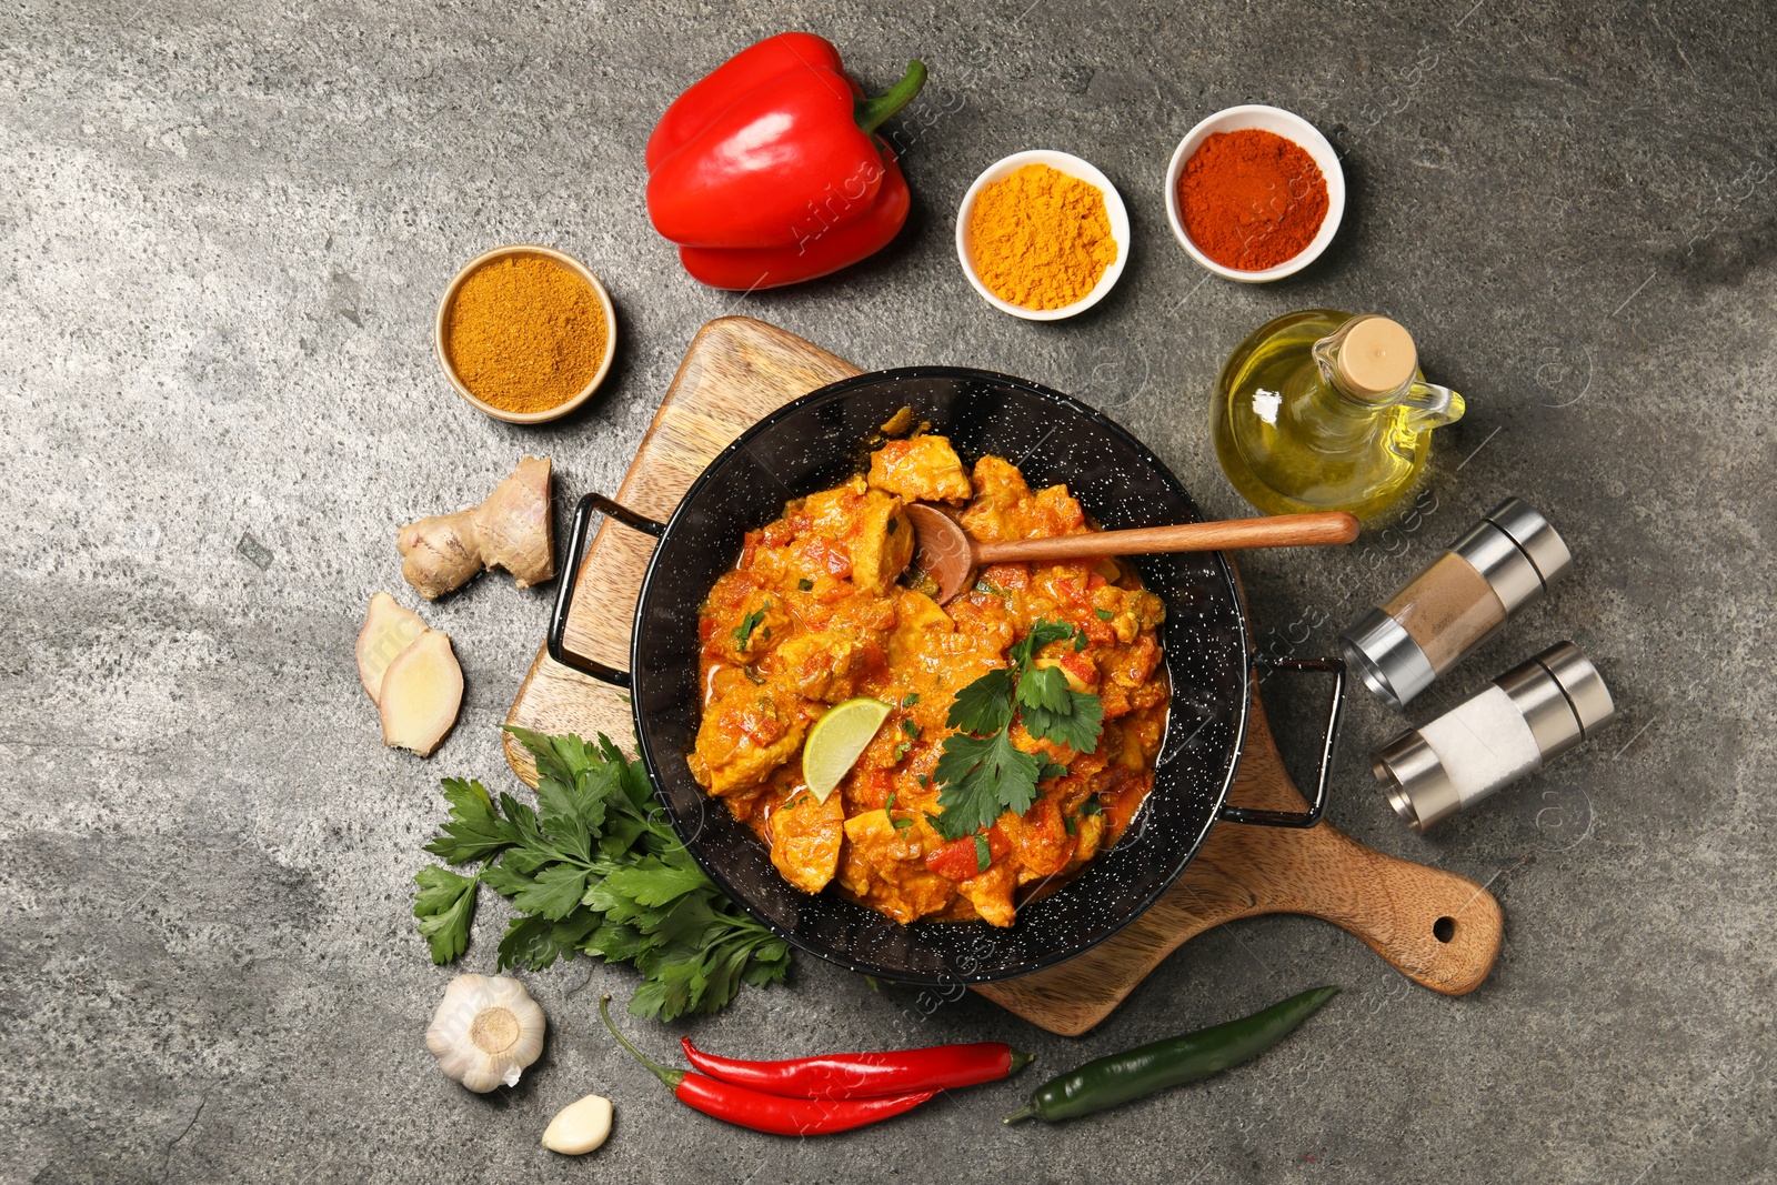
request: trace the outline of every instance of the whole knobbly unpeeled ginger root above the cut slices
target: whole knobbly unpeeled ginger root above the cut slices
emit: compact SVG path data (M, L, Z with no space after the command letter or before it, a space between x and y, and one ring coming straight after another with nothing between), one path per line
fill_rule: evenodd
M505 569L519 588L554 576L549 458L526 457L480 506L409 522L394 540L402 576L426 600L482 569Z

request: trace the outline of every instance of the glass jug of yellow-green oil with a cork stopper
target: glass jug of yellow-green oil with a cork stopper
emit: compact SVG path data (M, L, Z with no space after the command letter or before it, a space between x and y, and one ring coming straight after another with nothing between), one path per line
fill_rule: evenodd
M1210 435L1223 473L1265 513L1393 505L1462 396L1425 382L1407 330L1383 316L1288 313L1235 346L1215 380Z

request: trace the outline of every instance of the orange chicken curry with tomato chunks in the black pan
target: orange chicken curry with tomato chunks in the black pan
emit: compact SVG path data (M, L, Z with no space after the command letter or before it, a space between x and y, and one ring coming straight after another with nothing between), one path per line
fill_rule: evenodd
M869 473L791 501L748 531L739 563L704 602L702 723L691 773L769 847L796 888L828 887L899 922L1011 926L1020 903L1077 872L1128 828L1153 785L1167 686L1164 602L1118 560L1002 563L938 606L899 585L913 553L908 501L947 503L977 540L1091 531L1064 485L1031 490L999 457L968 473L942 435L888 441ZM1011 725L1041 762L1029 810L945 839L935 769L956 693L1006 668L1040 620L1075 634L1043 645L1070 689L1104 711L1093 752ZM1047 636L1047 634L1045 634ZM801 744L828 707L873 696L892 711L821 801Z

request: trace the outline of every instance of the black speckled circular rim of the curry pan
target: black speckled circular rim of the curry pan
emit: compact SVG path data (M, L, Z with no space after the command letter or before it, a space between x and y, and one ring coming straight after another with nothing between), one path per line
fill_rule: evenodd
M810 403L835 398L835 396L844 394L844 393L848 393L848 391L851 391L855 387L874 386L874 384L880 384L880 382L915 380L915 378L956 378L956 380L963 380L963 382L999 382L999 384L1008 384L1008 386L1015 386L1015 387L1020 387L1024 391L1029 391L1029 393L1032 393L1032 394L1036 394L1036 396L1040 396L1043 400L1048 400L1048 402L1056 403L1057 409L1064 409L1068 412L1073 412L1077 416L1091 419L1096 425L1100 425L1105 432L1109 432L1109 433L1123 439L1132 449L1136 449L1137 455L1141 455L1148 464L1153 465L1153 469L1160 476L1160 480L1166 481L1166 483L1169 483L1180 494L1180 497L1183 497L1185 501L1192 501L1191 499L1191 492L1173 474L1173 471L1166 465L1166 462L1162 462L1146 444L1143 444L1139 439L1136 439L1120 423L1116 423L1109 416L1104 416L1102 412L1088 407L1086 403L1080 403L1079 400L1075 400L1072 396L1061 394L1059 391L1050 391L1048 387L1034 384L1034 382L1031 382L1027 378L1015 378L1011 375L1000 375L1000 373L995 373L995 371L972 370L972 368L961 368L961 366L908 366L908 368L899 368L899 370L867 371L867 373L857 375L853 378L842 378L842 380L839 380L835 384L830 384L830 386L821 387L817 391L810 391L805 396L791 400L789 403L785 403L784 407L780 407L778 410L771 412L769 416L766 416L764 419L761 419L759 423L755 423L752 428L748 428L746 432L743 432L732 444L729 444L725 449L721 449L721 453L718 453L716 457L711 458L711 462L704 467L704 473L700 473L697 476L697 480L691 483L691 487L679 499L679 506L673 510L672 517L666 521L665 529L661 531L659 542L656 544L656 549L654 549L654 556L649 560L647 572L641 577L641 588L640 588L640 592L636 595L636 616L634 616L634 622L631 625L631 640L629 640L629 670L631 672L641 670L641 666L643 666L641 620L643 620L643 611L647 609L647 604L649 604L649 600L650 600L650 597L654 593L654 574L657 570L657 558L659 558L659 554L661 554L661 551L665 547L665 542L672 537L673 528L677 528L681 524L681 521L686 517L689 506L697 501L698 494L702 494L704 487L707 483L711 483L713 478L714 478L714 474L721 469L721 462L727 457L730 457L732 453L737 453L737 451L745 449L753 439L757 439L759 435L769 432L777 423L780 423L784 419L789 419L791 416L801 412ZM1233 611L1235 611L1233 620L1235 620L1235 627L1237 627L1239 636L1240 636L1240 652L1251 656L1253 654L1253 634L1251 634L1251 624L1247 620L1246 600L1240 595L1240 581L1235 576L1233 565L1228 561L1226 554L1215 553L1215 565L1217 565L1217 569L1221 572L1221 579L1226 581L1226 585L1228 585L1228 588L1230 588L1230 592L1233 595ZM1077 958L1077 956L1091 950L1093 947L1100 945L1102 942L1112 938L1114 934L1121 933L1130 922L1134 922L1143 913L1146 913L1150 908L1153 908L1153 903L1157 903L1162 895L1166 895L1166 892L1178 881L1178 878L1183 876L1185 869L1191 867L1191 862L1196 860L1198 853L1203 849L1203 844L1208 840L1210 831L1215 830L1217 815L1221 814L1223 805L1228 801L1228 792L1233 789L1235 775L1240 769L1240 759L1246 753L1246 736L1247 736L1247 725L1251 721L1251 707L1253 707L1253 693L1251 693L1251 688L1253 688L1253 668L1251 668L1251 661L1247 663L1247 668L1246 668L1246 673L1244 673L1244 679L1242 679L1242 688L1246 688L1246 689L1240 695L1240 702L1237 705L1233 705L1233 718L1231 718L1231 723L1233 723L1233 744L1230 748L1228 767L1223 771L1221 789L1217 791L1215 803L1214 803L1214 807L1208 812L1208 823L1203 826L1203 830L1192 840L1191 847L1187 849L1187 853L1183 855L1183 858L1178 862L1178 867L1173 871L1173 874L1169 878L1162 878L1162 883L1157 885L1155 890L1151 894L1148 894L1148 897L1144 901L1141 901L1136 908L1128 910L1125 917L1118 919L1116 924L1105 927L1102 933L1098 933L1091 940L1079 942L1079 943L1070 945L1066 949L1056 950L1048 958L1032 959L1031 963L1016 966L1013 970L1002 970L1002 972L947 970L944 974L933 975L933 974L924 974L924 972L912 972L912 970L906 970L906 968L880 966L880 965L871 963L867 959L848 958L848 956L837 954L835 950L828 950L828 949L823 949L819 945L812 945L812 943L805 942L794 931L789 931L789 929L784 929L782 926L777 926L771 919L764 917L764 913L757 911L752 904L748 904L746 895L743 892L739 892L739 888L729 879L729 876L723 872L721 867L718 867L716 863L707 862L704 858L704 853L698 849L697 844L686 842L686 847L691 853L691 856L698 862L698 865L704 869L704 872L707 872L709 878L716 883L716 887L721 888L721 892L725 892L743 910L746 910L746 913L750 917L753 917L755 920L759 920L761 924L764 924L766 929L769 929L773 934L777 934L778 938L785 940L793 947L796 947L800 950L807 950L809 954L814 954L814 956L817 956L821 959L826 959L830 963L837 963L839 966L844 966L848 970L853 970L853 972L858 972L858 974L864 974L864 975L876 975L876 977L888 979L888 981L894 981L894 982L942 984L942 986L949 986L949 984L999 982L999 981L1006 981L1006 979L1016 979L1020 975L1029 975L1029 974L1045 970L1048 966L1056 966L1059 963L1064 963L1064 961L1068 961L1072 958ZM1176 689L1175 689L1175 695L1176 695ZM665 780L661 778L659 759L654 753L654 746L649 743L649 730L643 727L641 709L638 707L640 700L641 700L641 696L638 695L638 689L631 688L631 712L634 716L634 725L636 725L636 750L638 750L638 753L641 757L643 767L649 773L649 783L654 787L654 792L659 796L661 794L659 787L665 785ZM1171 727L1171 714L1167 716L1167 727ZM663 803L663 807L666 808L668 814L672 814L670 807L666 807L665 803ZM677 821L673 823L673 826L677 828ZM684 839L684 837L681 835L681 839ZM970 926L970 924L972 922L958 922L958 926ZM915 922L915 926L917 926L917 922Z

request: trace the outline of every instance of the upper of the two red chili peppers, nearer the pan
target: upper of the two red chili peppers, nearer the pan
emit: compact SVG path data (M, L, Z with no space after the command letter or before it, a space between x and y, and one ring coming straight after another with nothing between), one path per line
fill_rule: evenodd
M684 1055L711 1078L785 1098L876 1098L903 1091L951 1091L997 1082L1022 1070L1031 1055L1004 1041L933 1045L883 1054L825 1054L755 1062L716 1057L681 1038Z

